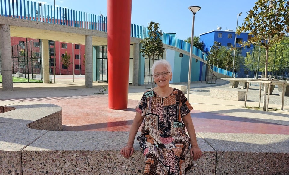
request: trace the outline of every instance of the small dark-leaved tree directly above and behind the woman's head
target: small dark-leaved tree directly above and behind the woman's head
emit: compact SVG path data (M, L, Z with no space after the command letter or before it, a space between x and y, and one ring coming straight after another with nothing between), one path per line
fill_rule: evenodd
M163 32L159 31L159 28L159 23L148 23L148 37L141 41L140 52L142 56L149 57L153 62L157 57L162 57L165 51L163 42L160 39L163 36Z

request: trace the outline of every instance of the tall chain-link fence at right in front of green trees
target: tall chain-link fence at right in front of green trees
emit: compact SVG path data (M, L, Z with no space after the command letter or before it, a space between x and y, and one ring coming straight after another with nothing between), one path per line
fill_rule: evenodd
M238 78L263 78L266 50L262 47L239 49L236 65ZM246 55L247 56L241 56ZM289 43L276 44L268 52L267 78L285 80L289 75Z

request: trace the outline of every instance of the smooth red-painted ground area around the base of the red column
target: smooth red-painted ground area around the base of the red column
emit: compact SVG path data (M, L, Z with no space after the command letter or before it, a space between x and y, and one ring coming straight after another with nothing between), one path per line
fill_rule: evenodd
M24 100L24 99L23 99ZM28 100L28 99L27 99ZM128 100L128 109L108 108L107 95L34 98L32 101L61 106L63 130L129 131L137 100ZM28 101L30 101L28 100ZM192 110L196 132L289 134L289 126L256 119Z

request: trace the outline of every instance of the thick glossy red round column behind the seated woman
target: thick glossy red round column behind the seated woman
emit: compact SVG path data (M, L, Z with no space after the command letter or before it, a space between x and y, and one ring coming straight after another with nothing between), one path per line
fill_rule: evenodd
M126 109L132 0L107 0L108 107Z

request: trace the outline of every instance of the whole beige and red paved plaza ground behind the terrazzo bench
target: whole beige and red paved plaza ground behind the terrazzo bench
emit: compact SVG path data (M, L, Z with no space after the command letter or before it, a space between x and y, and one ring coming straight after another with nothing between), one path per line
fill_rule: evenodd
M129 131L135 116L134 108L147 90L144 86L129 85L128 108L112 110L108 108L108 95L98 94L99 89L108 84L93 83L93 88L85 88L84 75L75 75L74 81L72 75L56 75L55 83L49 84L14 83L14 91L1 91L1 85L1 100L61 106L63 130L66 131ZM284 97L284 110L268 112L244 108L244 101L210 97L211 88L228 86L228 81L219 79L216 84L191 83L189 101L194 107L191 116L196 132L289 134L289 97ZM259 84L250 85L247 106L258 106L258 89ZM281 109L278 88L270 95L269 108Z

